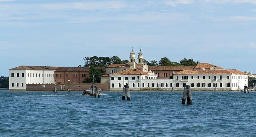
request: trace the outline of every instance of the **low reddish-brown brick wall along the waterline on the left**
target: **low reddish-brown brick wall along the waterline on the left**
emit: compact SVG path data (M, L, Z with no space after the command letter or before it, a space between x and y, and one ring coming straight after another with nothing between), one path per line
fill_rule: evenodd
M109 84L95 84L103 91L109 91ZM55 84L26 84L26 91L53 91ZM84 91L91 88L92 84L56 84L58 91Z

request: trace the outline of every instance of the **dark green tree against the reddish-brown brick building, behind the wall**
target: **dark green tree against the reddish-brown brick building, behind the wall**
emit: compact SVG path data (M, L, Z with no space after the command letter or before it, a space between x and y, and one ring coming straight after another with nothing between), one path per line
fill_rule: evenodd
M104 70L90 66L89 77L85 78L82 83L92 83L94 75L94 82L101 83L101 76L104 75Z

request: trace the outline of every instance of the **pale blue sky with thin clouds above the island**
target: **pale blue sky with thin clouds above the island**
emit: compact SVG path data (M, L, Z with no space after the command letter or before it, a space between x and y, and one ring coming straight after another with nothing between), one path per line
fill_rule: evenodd
M0 0L0 76L132 48L256 73L256 0Z

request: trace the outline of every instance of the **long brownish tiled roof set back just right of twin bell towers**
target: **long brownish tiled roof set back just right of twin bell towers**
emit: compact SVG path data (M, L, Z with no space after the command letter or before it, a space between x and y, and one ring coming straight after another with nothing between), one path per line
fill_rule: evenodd
M148 70L151 71L182 71L182 70L193 70L195 66L148 66Z

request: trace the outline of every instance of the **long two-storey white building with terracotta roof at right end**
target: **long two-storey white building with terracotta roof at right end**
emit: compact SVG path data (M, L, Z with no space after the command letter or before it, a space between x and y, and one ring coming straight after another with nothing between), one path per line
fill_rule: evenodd
M232 90L248 86L248 74L238 70L184 70L174 74L174 89L183 90Z

